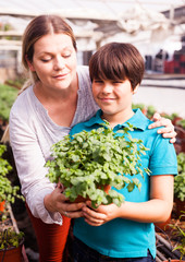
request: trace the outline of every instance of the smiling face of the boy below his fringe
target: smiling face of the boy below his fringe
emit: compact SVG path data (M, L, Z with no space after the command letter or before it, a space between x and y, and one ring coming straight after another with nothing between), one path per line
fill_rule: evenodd
M132 96L136 93L136 90L137 87L133 91L128 80L118 82L95 79L92 81L94 98L107 120L110 117L115 117L124 121L130 117L133 112Z

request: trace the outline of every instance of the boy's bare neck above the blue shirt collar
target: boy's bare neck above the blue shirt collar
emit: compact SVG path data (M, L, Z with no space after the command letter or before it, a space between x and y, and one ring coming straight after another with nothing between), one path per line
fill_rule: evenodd
M126 122L130 118L132 118L134 116L134 111L131 109L130 111L123 114L115 114L115 115L109 115L109 114L104 114L102 112L101 118L107 120L110 123L111 128L114 128L118 124L124 123Z

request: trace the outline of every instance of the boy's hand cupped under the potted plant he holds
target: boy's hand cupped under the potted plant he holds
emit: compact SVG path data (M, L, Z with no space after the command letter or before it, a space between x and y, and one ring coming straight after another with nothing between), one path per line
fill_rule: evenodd
M90 226L101 226L104 223L119 217L119 207L115 204L100 205L98 209L92 209L90 201L86 202L83 207L85 222Z

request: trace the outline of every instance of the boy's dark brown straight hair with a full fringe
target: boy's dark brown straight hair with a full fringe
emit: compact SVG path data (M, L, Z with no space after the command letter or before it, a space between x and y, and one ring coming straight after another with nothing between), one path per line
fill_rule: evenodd
M110 43L98 49L89 61L91 81L130 80L132 88L140 84L145 71L145 62L132 44Z

